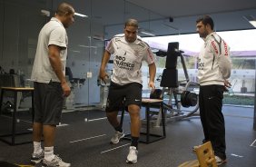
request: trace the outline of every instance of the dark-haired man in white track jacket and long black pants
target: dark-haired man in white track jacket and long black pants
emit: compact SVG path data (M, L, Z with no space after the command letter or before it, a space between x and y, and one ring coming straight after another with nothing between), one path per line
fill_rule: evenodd
M223 92L231 83L231 54L228 44L213 32L213 21L203 15L196 21L196 31L204 40L198 56L200 83L199 106L204 139L212 142L218 165L226 162L225 123L222 114Z

